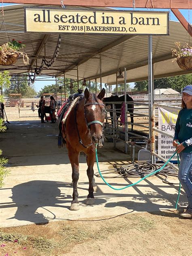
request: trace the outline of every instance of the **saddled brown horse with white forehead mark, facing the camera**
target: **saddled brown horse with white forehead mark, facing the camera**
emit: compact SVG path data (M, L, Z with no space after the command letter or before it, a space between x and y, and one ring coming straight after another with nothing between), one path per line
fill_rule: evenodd
M79 153L87 155L87 176L89 179L89 194L86 204L94 204L94 162L95 144L102 139L105 105L102 99L105 96L103 88L98 94L90 94L87 89L85 97L71 110L64 125L62 136L66 142L68 156L72 166L73 201L70 210L79 210L77 182L79 179Z

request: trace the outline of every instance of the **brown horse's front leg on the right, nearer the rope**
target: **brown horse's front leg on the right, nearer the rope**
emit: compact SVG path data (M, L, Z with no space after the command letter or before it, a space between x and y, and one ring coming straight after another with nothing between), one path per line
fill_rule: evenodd
M95 162L95 151L94 150L95 150L94 146L91 146L87 152L87 166L88 166L87 176L89 179L89 194L87 196L87 200L86 200L85 204L88 204L88 205L94 204L94 202L95 202L94 195L93 195L94 187L96 187L95 179L94 179L94 170L93 170L94 162Z

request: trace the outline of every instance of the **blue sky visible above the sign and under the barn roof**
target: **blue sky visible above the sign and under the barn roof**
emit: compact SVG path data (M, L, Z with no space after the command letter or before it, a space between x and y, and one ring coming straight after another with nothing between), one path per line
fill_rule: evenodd
M4 4L4 6L6 5L13 5L13 4ZM2 4L0 4L0 6L2 6ZM133 10L132 8L115 8L118 10ZM135 11L147 11L147 8L136 8ZM148 9L148 11L169 11L169 19L173 20L173 21L178 21L178 19L175 17L175 15L169 10L169 9ZM186 10L186 9L181 9L179 10L182 15L186 18L186 20L191 23L192 22L192 10ZM39 77L36 77L37 79ZM34 83L34 86L36 88L36 91L41 90L41 88L43 88L45 85L49 85L49 84L55 84L55 78L47 78L47 80L52 80L52 81L38 81L36 80L36 82ZM131 83L131 87L134 86L134 83Z

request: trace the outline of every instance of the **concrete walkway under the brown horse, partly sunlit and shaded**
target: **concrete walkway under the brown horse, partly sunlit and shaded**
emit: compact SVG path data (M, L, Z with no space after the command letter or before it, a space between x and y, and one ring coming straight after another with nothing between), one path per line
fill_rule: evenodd
M54 124L40 121L11 122L9 130L0 134L0 148L9 158L11 173L0 191L0 223L2 227L42 223L51 220L105 217L124 213L173 209L178 185L162 183L161 177L150 177L137 187L115 191L96 177L98 191L95 205L85 205L88 194L86 159L80 155L78 185L79 211L70 211L73 187L71 166L66 148L57 147L57 129ZM127 163L128 156L115 151L113 143L98 149L100 169L113 168L113 163ZM95 165L95 172L97 168ZM116 187L137 181L134 179L107 179ZM170 177L170 181L177 178ZM180 205L186 205L181 192Z

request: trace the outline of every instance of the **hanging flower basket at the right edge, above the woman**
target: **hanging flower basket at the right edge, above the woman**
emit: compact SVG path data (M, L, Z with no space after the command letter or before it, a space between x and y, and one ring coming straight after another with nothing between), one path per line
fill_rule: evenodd
M192 70L192 47L188 43L184 43L181 48L181 44L179 42L175 42L175 46L177 49L172 50L172 56L175 57L177 64L183 70Z

